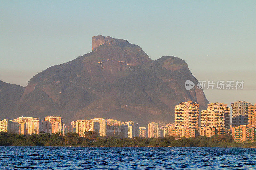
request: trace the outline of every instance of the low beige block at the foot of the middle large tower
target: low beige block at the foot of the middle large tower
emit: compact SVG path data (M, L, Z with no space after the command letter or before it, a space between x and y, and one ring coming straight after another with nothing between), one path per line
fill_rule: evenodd
M205 126L200 129L200 135L211 137L213 135L225 135L229 133L228 128L223 128L219 126Z

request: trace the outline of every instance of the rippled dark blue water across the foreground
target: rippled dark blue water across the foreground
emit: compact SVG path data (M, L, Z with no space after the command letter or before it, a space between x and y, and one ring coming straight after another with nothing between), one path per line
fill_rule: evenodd
M256 148L0 147L0 169L255 169Z

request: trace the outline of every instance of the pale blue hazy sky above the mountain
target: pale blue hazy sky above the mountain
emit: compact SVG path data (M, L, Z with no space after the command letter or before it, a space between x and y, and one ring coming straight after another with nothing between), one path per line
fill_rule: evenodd
M95 35L126 39L151 59L185 60L210 102L255 102L256 1L1 1L0 79L26 86L44 69L92 51Z

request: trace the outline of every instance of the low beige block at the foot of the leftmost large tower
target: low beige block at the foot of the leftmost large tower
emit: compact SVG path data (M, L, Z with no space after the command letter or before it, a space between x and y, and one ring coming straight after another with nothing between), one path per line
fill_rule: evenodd
M171 128L169 130L169 136L173 136L176 139L180 139L182 137L189 138L189 137L195 137L195 129L192 128Z

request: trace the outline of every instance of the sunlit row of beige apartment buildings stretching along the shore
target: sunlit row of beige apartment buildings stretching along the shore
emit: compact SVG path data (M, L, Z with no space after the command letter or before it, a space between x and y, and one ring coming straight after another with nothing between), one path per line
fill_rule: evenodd
M18 117L17 119L0 120L0 132L16 134L40 134L42 132L66 135L76 133L80 137L93 132L99 136L120 136L121 138L158 138L172 136L175 139L196 136L211 137L214 135L232 134L238 142L256 140L256 105L244 101L232 103L230 107L224 103L210 103L207 110L201 111L201 126L199 128L199 104L192 101L181 102L175 106L175 122L159 126L156 122L148 123L146 127L134 121L122 122L114 119L93 118L71 122L66 126L60 116L46 116L44 120L33 117ZM230 119L232 117L232 119ZM233 118L235 122L231 122Z

